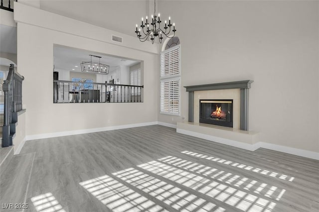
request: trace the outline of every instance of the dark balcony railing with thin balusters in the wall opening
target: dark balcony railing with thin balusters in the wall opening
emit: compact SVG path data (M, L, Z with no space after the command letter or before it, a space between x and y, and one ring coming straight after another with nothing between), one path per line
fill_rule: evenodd
M141 103L143 86L53 80L53 103Z

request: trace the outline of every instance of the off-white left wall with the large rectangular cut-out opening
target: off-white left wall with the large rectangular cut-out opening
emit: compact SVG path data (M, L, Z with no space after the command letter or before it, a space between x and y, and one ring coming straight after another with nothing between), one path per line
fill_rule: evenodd
M126 42L132 39L127 44L130 48L124 46L125 43L116 45L108 40L113 33L110 30L18 2L15 2L14 17L18 22L19 70L25 77L22 96L27 109L27 136L157 121L158 90L153 85L158 82L158 54L154 54L158 52L158 46L150 43L139 45L140 41L126 35L123 35ZM83 27L97 33L87 33L82 30ZM145 77L148 79L145 83L147 89L144 91L144 103L53 104L54 44L144 60L147 70Z

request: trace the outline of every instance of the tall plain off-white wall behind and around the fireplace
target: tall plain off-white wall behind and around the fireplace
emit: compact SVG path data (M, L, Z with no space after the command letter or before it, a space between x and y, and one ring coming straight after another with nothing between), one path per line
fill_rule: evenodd
M176 24L182 86L254 80L250 130L262 142L319 152L319 1L178 0L158 8ZM181 116L159 121L188 119L183 87L181 98Z

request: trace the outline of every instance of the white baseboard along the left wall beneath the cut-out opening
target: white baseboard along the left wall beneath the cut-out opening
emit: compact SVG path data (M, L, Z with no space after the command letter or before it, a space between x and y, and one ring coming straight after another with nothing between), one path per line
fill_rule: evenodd
M156 124L158 124L158 122L153 121L153 122L144 122L144 123L136 123L136 124L107 126L107 127L101 127L101 128L91 128L91 129L80 129L80 130L72 130L72 131L35 134L35 135L27 135L25 137L26 137L26 140L36 140L36 139L42 139L42 138L53 138L53 137L61 137L61 136L67 136L67 135L78 135L78 134L85 134L85 133L92 133L92 132L101 132L101 131L125 129L125 128L132 128L132 127L139 127L139 126L149 126L149 125L156 125Z

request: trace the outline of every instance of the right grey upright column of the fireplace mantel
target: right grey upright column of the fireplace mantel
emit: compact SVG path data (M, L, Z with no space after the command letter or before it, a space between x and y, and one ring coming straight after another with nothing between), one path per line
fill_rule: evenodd
M248 130L249 89L240 89L240 129Z

